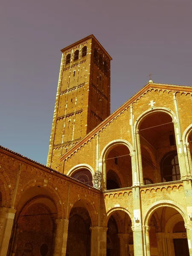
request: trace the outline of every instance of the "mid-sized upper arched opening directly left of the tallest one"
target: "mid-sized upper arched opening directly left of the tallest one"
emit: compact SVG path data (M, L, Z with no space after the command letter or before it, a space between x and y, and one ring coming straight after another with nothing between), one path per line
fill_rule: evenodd
M130 151L126 145L115 144L105 154L107 189L132 186Z

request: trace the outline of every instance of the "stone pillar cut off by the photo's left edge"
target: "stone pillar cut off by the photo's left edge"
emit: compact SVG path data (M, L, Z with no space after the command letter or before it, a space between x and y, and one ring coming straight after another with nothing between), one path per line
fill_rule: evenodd
M15 212L12 208L0 208L0 256L7 255Z

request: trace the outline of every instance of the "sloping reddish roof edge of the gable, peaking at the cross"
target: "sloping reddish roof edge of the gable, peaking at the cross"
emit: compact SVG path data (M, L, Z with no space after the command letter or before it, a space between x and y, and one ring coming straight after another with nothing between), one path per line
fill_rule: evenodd
M186 91L186 92L192 92L192 87L190 86L183 86L183 85L174 85L174 84L156 84L156 83L147 83L142 89L140 89L137 93L135 93L128 101L126 101L123 105L121 105L116 111L114 111L110 116L108 116L103 122L101 122L99 125L97 125L90 133L88 133L82 140L80 140L76 145L74 145L72 148L70 148L69 151L67 151L64 155L62 155L59 160L64 160L67 158L73 151L75 151L81 144L87 141L89 137L91 137L93 134L96 134L96 132L99 131L99 129L104 126L106 123L108 123L111 119L114 118L117 114L119 114L125 107L128 105L131 105L135 99L138 98L145 90L147 90L149 87L155 87L157 89L170 89L170 90L177 90L177 91Z

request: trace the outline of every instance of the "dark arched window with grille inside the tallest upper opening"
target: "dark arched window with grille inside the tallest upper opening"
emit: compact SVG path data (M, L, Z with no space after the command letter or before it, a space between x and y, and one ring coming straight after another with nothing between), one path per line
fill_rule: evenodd
M180 169L177 152L167 154L162 162L161 169L163 174L163 182L180 180Z

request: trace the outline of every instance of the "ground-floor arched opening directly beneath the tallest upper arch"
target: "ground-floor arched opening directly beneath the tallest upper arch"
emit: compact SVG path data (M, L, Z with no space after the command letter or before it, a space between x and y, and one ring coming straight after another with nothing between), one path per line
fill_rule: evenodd
M172 207L159 207L148 220L151 255L189 256L187 233L181 214ZM164 241L164 242L163 242Z

